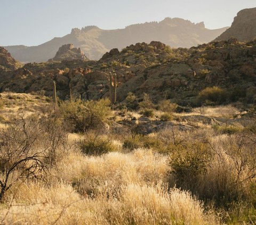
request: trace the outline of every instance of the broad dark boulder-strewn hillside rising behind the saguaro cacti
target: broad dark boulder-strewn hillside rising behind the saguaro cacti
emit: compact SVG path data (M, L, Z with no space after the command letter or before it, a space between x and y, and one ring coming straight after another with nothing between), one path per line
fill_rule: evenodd
M108 74L115 71L118 102L132 92L138 101L148 93L154 102L167 98L181 105L197 105L199 91L218 86L227 91L227 101L255 103L255 57L255 41L239 43L233 38L190 49L153 41L130 45L121 52L112 49L99 61L29 63L0 82L0 90L43 90L51 96L55 81L62 99L68 98L69 88L83 99L99 99L108 97Z

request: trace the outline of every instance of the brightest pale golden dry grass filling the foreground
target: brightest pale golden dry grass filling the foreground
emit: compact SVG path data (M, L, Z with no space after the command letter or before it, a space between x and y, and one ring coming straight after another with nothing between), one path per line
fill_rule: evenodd
M166 157L143 149L100 157L71 152L50 186L25 182L13 188L2 206L1 220L5 224L214 224L214 217L204 214L202 203L188 192L167 190L163 183L167 170ZM94 194L78 194L70 185L74 179L93 188Z

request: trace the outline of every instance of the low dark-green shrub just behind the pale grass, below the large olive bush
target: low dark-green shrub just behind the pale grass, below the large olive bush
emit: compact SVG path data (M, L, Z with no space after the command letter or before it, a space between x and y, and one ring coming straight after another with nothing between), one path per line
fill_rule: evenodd
M110 139L95 134L86 134L86 137L79 141L78 147L85 155L102 155L117 151Z

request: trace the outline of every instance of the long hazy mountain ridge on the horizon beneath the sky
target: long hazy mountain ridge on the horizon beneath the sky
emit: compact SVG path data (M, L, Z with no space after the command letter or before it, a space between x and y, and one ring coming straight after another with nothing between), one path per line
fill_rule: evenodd
M72 29L71 33L38 46L6 46L21 62L43 62L54 57L59 47L73 43L91 60L98 60L112 48L122 49L136 43L161 41L171 47L191 47L208 43L226 28L210 30L204 23L192 23L180 18L165 18L161 22L134 24L124 29L102 30L95 26Z

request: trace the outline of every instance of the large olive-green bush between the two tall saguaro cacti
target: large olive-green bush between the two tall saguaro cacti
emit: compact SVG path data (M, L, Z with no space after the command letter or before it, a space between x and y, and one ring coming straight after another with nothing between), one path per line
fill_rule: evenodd
M95 128L110 115L110 102L108 99L99 101L63 102L60 111L64 120L70 124L74 132L85 132L87 129Z

